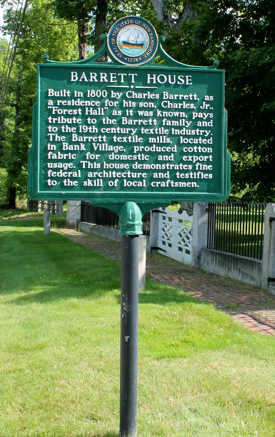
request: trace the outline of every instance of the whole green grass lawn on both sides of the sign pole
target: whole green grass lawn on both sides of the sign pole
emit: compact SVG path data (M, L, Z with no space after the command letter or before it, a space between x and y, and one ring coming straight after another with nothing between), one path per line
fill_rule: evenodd
M0 436L118 437L119 264L42 218L0 247ZM275 339L212 305L147 281L138 366L139 437L275 436Z

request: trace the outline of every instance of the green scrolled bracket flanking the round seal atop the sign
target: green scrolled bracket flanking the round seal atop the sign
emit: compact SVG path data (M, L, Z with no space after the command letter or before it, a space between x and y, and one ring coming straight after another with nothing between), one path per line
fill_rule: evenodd
M59 62L59 61L51 61L49 59L48 55L43 55L43 59L47 64L59 64L59 65L65 65L65 64L90 64L90 63L96 63L97 59L100 58L100 56L104 55L104 53L107 52L109 58L112 60L112 62L108 62L110 65L121 65L120 62L118 62L110 53L110 50L108 49L108 45L107 45L107 35L100 35L100 39L103 40L103 45L100 48L100 50L98 52L96 52L94 55L89 56L89 58L87 59L81 59L80 61L71 61L71 62ZM188 64L183 64L182 62L176 61L175 59L173 59L171 56L168 55L168 53L165 52L165 50L162 47L162 42L165 41L165 37L164 36L160 36L158 38L158 49L155 53L155 56L153 56L149 62L146 62L146 64L143 65L151 65L152 67L156 67L158 68L160 65L158 64L153 64L152 62L154 62L154 60L156 59L156 57L159 55L164 61L167 62L168 66L173 66L173 67L180 67L180 68L196 68L196 69L217 69L217 67L219 66L219 61L214 60L213 61L213 65L210 66L193 66L193 65L188 65ZM102 65L102 62L100 62L100 64ZM162 67L164 65L161 65Z

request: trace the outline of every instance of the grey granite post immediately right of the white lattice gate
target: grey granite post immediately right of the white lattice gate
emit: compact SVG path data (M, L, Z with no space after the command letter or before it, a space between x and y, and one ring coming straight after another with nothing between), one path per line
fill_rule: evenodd
M201 250L207 247L208 202L194 202L192 232L192 266L200 268Z

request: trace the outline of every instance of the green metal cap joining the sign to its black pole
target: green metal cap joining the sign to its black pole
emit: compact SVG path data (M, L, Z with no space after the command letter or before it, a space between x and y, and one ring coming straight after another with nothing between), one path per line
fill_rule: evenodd
M126 202L119 212L120 235L140 235L141 230L141 210L135 202Z

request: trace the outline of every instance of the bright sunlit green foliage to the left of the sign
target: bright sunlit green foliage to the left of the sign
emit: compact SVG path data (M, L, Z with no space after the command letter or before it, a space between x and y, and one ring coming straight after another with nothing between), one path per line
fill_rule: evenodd
M7 33L12 33L14 11L6 13ZM24 17L15 63L1 113L2 166L7 170L7 187L16 187L17 196L27 194L27 160L31 147L32 111L36 98L36 63L47 53L60 61L76 59L76 25L55 17L47 0L35 0ZM7 48L0 41L1 51Z

